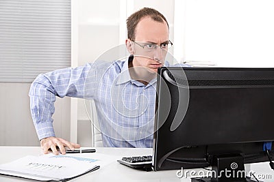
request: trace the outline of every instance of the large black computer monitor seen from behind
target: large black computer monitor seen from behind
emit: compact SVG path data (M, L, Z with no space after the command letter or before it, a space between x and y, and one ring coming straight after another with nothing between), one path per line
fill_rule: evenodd
M158 69L154 170L245 170L274 156L273 129L274 68Z

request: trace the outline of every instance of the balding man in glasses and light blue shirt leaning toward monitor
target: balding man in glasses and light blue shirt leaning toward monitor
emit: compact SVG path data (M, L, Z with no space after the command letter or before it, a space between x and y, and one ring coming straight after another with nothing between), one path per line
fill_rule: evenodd
M44 153L80 145L55 137L55 96L95 100L104 147L152 147L158 67L172 46L160 12L143 8L127 18L127 61L88 63L40 74L29 91L32 118Z

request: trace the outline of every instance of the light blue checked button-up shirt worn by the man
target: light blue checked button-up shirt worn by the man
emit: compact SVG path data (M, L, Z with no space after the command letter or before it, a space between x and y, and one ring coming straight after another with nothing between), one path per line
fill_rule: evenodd
M104 147L152 147L155 87L156 78L148 85L133 80L128 61L97 61L40 74L29 91L38 138L55 136L55 96L69 96L95 101Z

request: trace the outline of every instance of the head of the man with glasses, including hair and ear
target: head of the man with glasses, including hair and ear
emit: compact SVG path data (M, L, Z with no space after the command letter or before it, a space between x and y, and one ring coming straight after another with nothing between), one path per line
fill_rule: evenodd
M127 50L134 55L134 67L144 67L157 72L171 45L169 24L157 10L142 8L127 18Z

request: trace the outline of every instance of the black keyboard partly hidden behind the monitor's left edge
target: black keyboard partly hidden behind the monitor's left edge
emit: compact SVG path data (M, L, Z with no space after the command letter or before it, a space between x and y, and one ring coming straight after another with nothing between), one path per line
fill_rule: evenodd
M131 168L142 169L146 171L152 170L152 156L138 156L138 157L123 157L122 160L117 162L129 166Z

